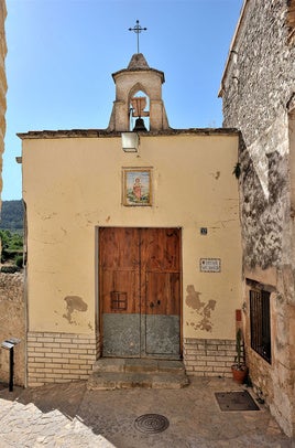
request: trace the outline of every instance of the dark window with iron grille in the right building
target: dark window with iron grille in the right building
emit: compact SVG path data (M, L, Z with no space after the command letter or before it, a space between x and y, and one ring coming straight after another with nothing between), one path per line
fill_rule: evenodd
M251 348L271 364L270 296L264 290L250 290Z

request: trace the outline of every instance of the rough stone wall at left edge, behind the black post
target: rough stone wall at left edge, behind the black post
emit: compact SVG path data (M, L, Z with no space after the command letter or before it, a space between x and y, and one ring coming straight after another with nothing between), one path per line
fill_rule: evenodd
M9 338L21 342L14 348L14 384L25 382L25 307L23 274L0 274L0 343ZM0 348L0 381L9 381L9 350Z

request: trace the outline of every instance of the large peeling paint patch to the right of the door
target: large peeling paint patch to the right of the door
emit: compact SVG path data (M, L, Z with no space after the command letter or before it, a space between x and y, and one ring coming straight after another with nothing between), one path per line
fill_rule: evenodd
M195 330L211 332L211 312L215 310L216 300L201 301L199 298L201 292L196 291L194 285L188 285L186 291L186 305L194 310L192 313L196 314L198 319L198 322L190 322L190 327L194 327ZM199 318L201 319L199 320Z

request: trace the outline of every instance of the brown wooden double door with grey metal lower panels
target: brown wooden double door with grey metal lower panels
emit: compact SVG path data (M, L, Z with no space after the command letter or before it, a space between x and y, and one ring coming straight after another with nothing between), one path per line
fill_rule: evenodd
M102 355L181 356L181 231L99 231Z

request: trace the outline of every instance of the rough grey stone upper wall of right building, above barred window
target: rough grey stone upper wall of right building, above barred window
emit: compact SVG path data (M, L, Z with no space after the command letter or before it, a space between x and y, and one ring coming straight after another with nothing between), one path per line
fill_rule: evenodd
M288 125L295 45L285 0L248 0L221 92L223 126L242 131L241 203L244 263L283 262L289 232ZM287 236L287 235L285 235Z

